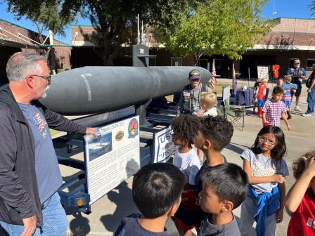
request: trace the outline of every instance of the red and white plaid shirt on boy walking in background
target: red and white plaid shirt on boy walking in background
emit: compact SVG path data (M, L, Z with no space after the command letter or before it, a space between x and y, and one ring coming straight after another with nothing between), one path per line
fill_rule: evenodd
M262 111L266 112L266 120L273 126L280 126L281 113L286 112L287 107L283 101L276 101L274 98L267 100L262 107Z

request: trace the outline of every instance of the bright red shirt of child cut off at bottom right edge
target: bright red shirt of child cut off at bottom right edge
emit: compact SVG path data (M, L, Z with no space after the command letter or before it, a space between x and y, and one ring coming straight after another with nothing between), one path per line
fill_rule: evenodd
M292 214L288 236L314 236L315 235L315 195L309 188L305 193L300 206Z

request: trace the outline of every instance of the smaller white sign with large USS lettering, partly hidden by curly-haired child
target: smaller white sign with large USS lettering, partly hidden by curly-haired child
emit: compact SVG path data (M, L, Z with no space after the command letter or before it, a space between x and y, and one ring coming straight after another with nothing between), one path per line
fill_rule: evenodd
M158 133L154 133L154 162L167 162L175 154L175 146L172 140L172 129L168 127Z

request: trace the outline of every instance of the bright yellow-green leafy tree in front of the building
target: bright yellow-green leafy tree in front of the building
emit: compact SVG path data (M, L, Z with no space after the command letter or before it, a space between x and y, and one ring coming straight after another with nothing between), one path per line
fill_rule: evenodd
M181 15L173 32L163 37L174 55L194 56L195 64L202 55L228 55L240 59L269 32L272 23L259 17L266 0L212 0Z

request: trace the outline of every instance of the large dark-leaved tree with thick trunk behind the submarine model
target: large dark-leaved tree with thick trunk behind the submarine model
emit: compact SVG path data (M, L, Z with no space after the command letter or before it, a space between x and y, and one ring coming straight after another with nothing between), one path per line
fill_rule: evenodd
M95 34L85 34L86 40L100 46L98 55L103 65L113 65L113 59L121 51L122 45L136 43L136 15L150 27L172 27L179 19L181 11L193 4L191 0L91 0L79 1L77 6L85 6L84 16L91 20ZM72 2L73 4L73 2Z

